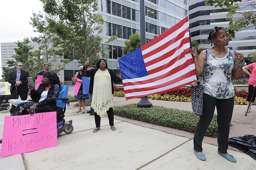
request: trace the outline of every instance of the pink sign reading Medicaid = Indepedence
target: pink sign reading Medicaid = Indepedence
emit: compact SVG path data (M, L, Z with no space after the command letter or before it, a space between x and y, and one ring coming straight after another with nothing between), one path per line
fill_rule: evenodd
M5 116L1 156L57 146L56 112Z

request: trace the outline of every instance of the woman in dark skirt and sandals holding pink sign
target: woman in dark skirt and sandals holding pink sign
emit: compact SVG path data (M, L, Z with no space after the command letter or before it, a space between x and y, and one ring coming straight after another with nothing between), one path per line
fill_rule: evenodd
M78 82L78 83L82 83L80 81L78 81L76 78L82 80L82 77L84 77L83 75L83 66L80 66L79 67L79 72L77 72L75 74L75 78L74 77L71 77L71 79L73 80L73 82ZM88 99L89 98L89 95L85 95L83 94L83 85L81 85L81 87L79 88L79 91L78 91L78 94L75 96L77 99L78 99L78 111L77 113L85 113L85 99ZM83 111L81 109L81 105L83 104Z

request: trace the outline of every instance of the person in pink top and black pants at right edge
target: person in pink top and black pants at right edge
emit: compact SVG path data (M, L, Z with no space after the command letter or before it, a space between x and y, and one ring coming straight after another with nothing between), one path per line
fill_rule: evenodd
M251 73L248 71L249 69L251 70ZM255 97L256 97L256 93L254 93L254 95L253 95L253 85L256 84L256 63L251 63L248 66L244 66L243 67L243 72L248 74L249 77L250 77L249 80L248 80L249 87L248 87L248 96L247 96L247 99L246 99L247 108L249 107L249 109L248 109L248 111L247 111L247 108L245 110L245 112L247 111L248 113L250 113L251 105L253 104L253 102L255 100ZM249 106L252 95L253 95L253 99L252 99L252 102Z

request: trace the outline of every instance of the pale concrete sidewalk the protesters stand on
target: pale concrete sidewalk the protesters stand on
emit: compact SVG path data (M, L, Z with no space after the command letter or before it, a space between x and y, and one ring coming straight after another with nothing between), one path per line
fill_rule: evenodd
M191 111L191 103L150 100L152 104ZM114 97L115 106L138 103L139 99L125 101ZM3 170L156 170L156 169L239 169L255 170L256 161L247 154L229 147L237 163L217 154L217 139L204 138L206 161L193 154L193 133L115 116L116 131L111 131L107 116L102 117L101 130L95 128L94 116L77 114L75 103L66 109L66 120L73 120L74 131L58 136L58 146L39 151L1 157ZM89 106L86 107L89 110ZM230 137L256 135L256 106L245 116L245 105L235 105ZM4 116L0 112L0 136L3 133ZM0 144L1 147L2 144Z

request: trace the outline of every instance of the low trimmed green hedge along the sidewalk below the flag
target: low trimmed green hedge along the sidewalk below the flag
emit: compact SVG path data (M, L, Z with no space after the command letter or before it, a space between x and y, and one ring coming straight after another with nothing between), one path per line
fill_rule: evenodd
M115 115L128 119L175 128L194 133L199 117L190 111L166 108L163 106L138 107L137 104L115 106ZM217 137L217 115L214 115L206 136Z

